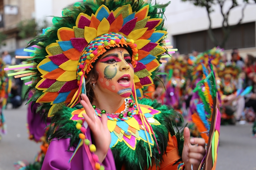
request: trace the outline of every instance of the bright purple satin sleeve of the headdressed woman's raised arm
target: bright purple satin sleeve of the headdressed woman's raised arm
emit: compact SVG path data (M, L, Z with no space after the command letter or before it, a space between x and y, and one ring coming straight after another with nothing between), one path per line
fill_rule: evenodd
M91 141L90 129L87 128L87 138ZM93 170L89 162L88 155L83 146L81 146L72 161L69 162L73 152L68 151L70 139L61 138L52 140L48 147L45 159L41 170ZM71 147L70 150L75 150ZM108 150L107 156L101 165L104 165L105 170L115 170L115 161L111 150Z

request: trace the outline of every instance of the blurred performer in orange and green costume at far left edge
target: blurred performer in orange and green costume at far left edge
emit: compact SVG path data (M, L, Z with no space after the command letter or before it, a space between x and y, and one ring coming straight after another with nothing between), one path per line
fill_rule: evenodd
M6 108L8 95L11 92L11 80L7 77L5 71L5 64L0 59L0 130L2 134L6 134L5 116L3 110ZM1 140L1 135L0 135Z

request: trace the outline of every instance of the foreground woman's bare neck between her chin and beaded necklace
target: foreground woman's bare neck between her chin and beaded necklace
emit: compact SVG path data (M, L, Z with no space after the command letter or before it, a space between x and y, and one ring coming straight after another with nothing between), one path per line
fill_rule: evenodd
M96 108L106 110L106 112L114 113L123 104L124 98L120 95L110 95L108 93L95 93L95 98L92 102Z

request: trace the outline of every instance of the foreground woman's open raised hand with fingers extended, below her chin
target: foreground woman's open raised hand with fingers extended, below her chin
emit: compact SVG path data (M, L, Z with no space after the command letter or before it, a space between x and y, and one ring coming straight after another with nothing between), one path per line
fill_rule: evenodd
M99 157L99 161L102 162L107 155L111 142L111 135L107 126L108 118L106 114L102 114L100 120L100 118L96 116L95 110L92 104L90 104L88 97L85 94L81 94L81 97L82 100L80 103L83 108L85 108L86 112L86 114L83 114L83 117L93 133L95 146L97 148L95 154Z

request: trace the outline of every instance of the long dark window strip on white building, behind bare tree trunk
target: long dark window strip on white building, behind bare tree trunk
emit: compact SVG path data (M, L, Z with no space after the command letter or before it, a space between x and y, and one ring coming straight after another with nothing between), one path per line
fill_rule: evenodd
M222 29L213 29L214 36L218 41L223 37ZM214 47L208 36L207 30L191 32L174 36L175 47L181 54L191 53L192 50L203 52ZM224 49L255 47L255 22L238 25L231 30Z

